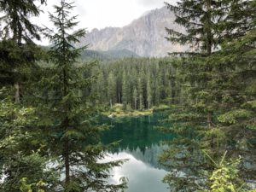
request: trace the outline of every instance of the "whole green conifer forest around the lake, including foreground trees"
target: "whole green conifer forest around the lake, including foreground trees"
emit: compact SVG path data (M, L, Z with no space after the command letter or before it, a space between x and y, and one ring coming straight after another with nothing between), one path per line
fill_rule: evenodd
M129 189L129 177L110 182L127 160L105 160L119 141L101 137L116 104L168 107L154 127L175 136L159 156L168 191L256 191L255 0L166 3L186 30L166 39L189 50L106 60L75 46L86 32L69 0L49 13L54 28L35 25L46 3L0 0L0 192Z

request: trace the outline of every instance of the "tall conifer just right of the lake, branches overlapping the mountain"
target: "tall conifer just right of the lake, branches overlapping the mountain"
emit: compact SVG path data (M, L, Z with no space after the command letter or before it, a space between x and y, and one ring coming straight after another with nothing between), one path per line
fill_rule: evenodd
M190 52L171 53L183 56L178 71L180 76L183 75L180 81L185 88L183 92L189 93L183 105L178 106L175 113L170 115L172 127L163 127L164 131L177 134L170 150L166 150L160 159L171 170L176 169L176 172L170 172L165 178L165 182L173 190L178 191L184 185L186 191L204 189L205 183L200 181L207 179L206 172L213 167L202 149L207 148L212 158L218 159L230 143L227 141L227 132L218 126L219 121L214 118L214 115L220 113L218 104L227 91L227 87L223 86L222 76L226 69L223 64L218 64L218 54L225 41L229 42L247 32L249 27L244 11L247 3L248 1L183 0L177 6L167 4L177 16L177 24L186 29L186 33L166 29L167 39L173 43L190 45ZM170 161L177 163L166 163ZM185 175L179 177L178 172L184 172L184 167ZM196 181L195 177L198 178Z

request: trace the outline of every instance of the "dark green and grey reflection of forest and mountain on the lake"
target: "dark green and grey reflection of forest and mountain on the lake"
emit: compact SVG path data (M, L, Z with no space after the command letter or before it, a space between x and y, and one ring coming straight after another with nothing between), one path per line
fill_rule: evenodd
M103 123L113 127L102 135L103 143L120 141L119 146L112 148L112 153L125 151L132 154L137 160L142 160L156 168L162 168L158 163L158 155L163 151L161 141L172 139L172 135L166 135L157 131L157 119L161 119L160 113L152 116L124 119L103 119Z

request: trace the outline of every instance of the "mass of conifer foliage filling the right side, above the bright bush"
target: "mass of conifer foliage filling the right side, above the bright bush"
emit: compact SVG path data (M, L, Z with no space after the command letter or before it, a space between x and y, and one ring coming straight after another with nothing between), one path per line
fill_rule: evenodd
M246 156L239 171L255 179L255 1L187 1L167 4L184 33L166 29L172 43L190 45L176 68L183 102L172 108L160 130L177 134L160 157L170 169L165 182L173 191L204 189L214 166L202 151L219 159ZM172 126L167 127L169 122ZM251 157L251 158L249 158ZM168 162L178 162L172 165ZM173 172L176 170L176 172ZM184 172L181 177L180 172ZM217 174L217 173L216 173ZM230 174L230 173L228 173ZM196 177L196 178L195 178ZM186 187L184 187L186 186Z

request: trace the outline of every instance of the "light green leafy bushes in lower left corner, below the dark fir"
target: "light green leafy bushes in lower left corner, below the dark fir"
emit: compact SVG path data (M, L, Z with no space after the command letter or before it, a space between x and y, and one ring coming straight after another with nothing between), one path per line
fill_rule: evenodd
M2 97L6 90L1 92ZM44 178L51 183L51 187L54 186L54 174L45 170L48 159L44 157L41 132L33 126L38 120L34 113L34 108L15 104L11 96L3 96L0 102L0 154L3 177L0 191L20 191L19 181L22 177L27 177L30 182ZM48 189L51 187L47 186Z

